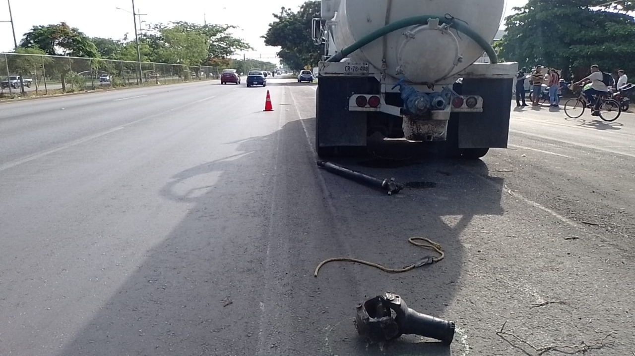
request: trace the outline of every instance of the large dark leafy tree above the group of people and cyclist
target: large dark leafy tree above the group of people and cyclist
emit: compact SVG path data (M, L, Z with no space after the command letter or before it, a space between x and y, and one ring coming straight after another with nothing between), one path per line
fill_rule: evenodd
M592 64L605 72L635 70L635 21L620 13L631 6L631 1L529 0L507 17L507 33L495 48L504 60L558 68L563 77L580 79Z

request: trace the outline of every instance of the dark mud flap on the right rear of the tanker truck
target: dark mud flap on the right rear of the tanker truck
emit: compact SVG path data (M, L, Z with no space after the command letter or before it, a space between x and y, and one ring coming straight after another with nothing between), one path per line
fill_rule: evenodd
M512 85L513 79L463 80L462 94L483 97L483 112L458 113L458 148L507 148Z

